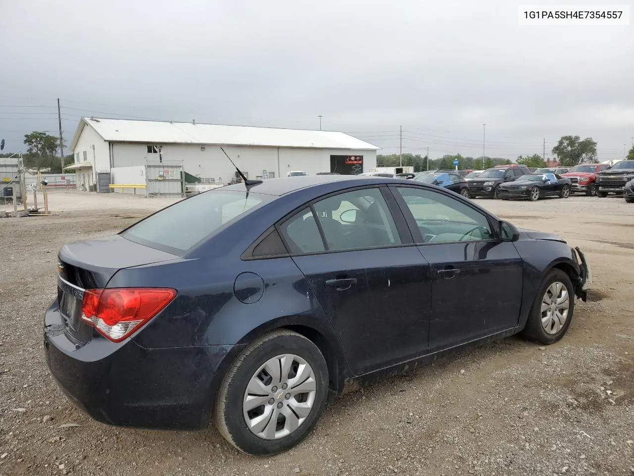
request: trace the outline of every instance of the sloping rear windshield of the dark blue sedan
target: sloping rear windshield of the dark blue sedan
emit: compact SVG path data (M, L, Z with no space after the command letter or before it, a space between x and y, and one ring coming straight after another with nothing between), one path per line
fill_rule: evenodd
M184 255L230 221L274 198L238 190L209 190L148 216L121 235L151 248Z

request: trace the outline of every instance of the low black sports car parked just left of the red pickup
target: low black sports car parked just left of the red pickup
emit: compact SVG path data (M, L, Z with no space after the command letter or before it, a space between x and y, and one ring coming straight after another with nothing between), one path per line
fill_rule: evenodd
M502 200L510 198L526 198L538 201L543 197L568 198L572 182L553 173L531 173L517 180L500 183L498 195Z

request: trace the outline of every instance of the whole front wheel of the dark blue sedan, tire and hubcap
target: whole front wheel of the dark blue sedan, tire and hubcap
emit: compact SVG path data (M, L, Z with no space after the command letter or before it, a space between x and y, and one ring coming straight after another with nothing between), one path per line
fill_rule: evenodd
M548 273L537 294L522 336L540 344L552 344L566 334L574 311L574 288L560 269Z

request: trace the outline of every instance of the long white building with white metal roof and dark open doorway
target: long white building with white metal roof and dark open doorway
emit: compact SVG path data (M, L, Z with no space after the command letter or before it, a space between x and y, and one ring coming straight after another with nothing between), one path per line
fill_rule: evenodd
M148 195L182 194L188 176L235 182L235 168L221 147L247 178L299 170L356 175L377 166L379 149L333 131L84 117L70 143L75 163L66 169L75 171L80 190L141 184Z

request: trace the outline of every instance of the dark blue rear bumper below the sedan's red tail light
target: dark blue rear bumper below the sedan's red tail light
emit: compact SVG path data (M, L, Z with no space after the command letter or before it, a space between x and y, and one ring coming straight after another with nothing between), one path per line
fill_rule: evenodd
M94 420L165 430L209 426L218 370L233 346L147 349L93 338L75 347L56 302L44 317L46 362L61 390Z

